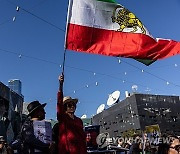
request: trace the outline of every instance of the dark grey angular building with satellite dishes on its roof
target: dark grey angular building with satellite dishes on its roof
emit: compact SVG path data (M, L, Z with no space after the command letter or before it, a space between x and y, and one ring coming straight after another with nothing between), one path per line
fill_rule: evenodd
M158 125L161 133L180 135L180 97L134 93L92 117L100 133L111 137L128 131L142 132Z

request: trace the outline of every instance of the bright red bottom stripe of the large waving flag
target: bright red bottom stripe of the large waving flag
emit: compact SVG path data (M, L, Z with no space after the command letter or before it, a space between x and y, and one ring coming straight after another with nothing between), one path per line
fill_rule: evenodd
M68 25L66 48L106 56L157 60L180 53L180 42L148 35Z

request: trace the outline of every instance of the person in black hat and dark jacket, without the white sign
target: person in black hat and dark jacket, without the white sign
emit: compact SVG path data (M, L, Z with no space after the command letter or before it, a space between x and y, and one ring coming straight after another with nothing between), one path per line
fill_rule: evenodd
M24 122L21 130L19 140L23 147L21 147L22 154L49 154L53 148L53 143L44 143L34 135L33 121L45 119L45 104L40 104L39 101L33 101L27 106L29 111L28 119ZM16 142L14 142L14 145ZM13 145L13 144L12 144ZM19 150L19 149L18 149Z

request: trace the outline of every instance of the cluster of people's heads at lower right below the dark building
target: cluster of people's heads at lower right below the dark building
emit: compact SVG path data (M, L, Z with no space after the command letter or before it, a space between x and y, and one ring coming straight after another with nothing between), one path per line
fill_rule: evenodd
M166 138L162 141L162 138ZM131 140L118 140L118 147L126 149L121 154L180 154L180 138L175 135L162 135L159 143L150 142L140 135L134 135Z

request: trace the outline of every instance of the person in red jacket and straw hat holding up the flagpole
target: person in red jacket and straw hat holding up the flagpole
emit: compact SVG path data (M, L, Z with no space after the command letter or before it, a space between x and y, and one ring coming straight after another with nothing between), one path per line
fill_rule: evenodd
M59 121L58 154L86 154L86 136L82 120L74 115L78 99L63 98L64 75L59 76L57 118Z

